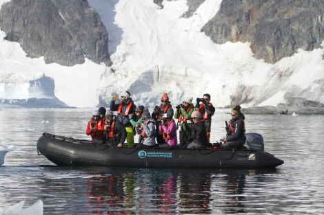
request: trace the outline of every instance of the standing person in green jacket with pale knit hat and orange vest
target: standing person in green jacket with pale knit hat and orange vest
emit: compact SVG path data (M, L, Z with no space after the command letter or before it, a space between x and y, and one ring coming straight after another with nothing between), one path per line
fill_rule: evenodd
M194 111L194 104L192 104L192 97L186 97L182 104L176 106L174 118L178 119L179 131L179 148L187 148L188 144L192 142L191 128L192 120L191 114Z

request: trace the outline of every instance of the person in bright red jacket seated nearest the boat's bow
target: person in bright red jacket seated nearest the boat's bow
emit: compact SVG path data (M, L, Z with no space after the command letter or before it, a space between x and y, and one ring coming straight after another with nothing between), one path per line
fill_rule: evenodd
M100 117L100 112L96 110L92 112L85 134L90 135L91 141L95 144L105 144L104 126L105 123Z

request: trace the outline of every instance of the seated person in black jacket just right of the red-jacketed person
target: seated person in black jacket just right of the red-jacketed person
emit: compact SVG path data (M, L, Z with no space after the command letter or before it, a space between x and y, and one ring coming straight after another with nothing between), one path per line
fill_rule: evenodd
M107 139L106 145L110 147L123 147L126 139L126 130L123 124L114 117L112 111L108 110L105 114L104 135Z

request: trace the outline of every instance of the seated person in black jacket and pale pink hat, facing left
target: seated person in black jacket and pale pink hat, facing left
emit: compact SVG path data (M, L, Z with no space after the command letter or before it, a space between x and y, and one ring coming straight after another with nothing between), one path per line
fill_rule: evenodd
M203 149L207 147L207 135L205 128L205 120L199 113L199 109L195 109L195 111L191 114L192 118L192 142L188 145L187 148L199 148Z

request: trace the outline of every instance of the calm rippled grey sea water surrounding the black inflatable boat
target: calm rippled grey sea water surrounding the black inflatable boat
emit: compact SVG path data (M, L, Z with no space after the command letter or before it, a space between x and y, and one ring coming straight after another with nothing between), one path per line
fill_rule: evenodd
M213 117L212 142L229 110ZM44 214L322 214L324 115L245 115L247 132L285 163L276 170L58 167L37 155L42 133L89 139L92 109L5 109L0 209L38 199ZM135 137L137 138L137 137ZM0 210L0 212L1 212Z

